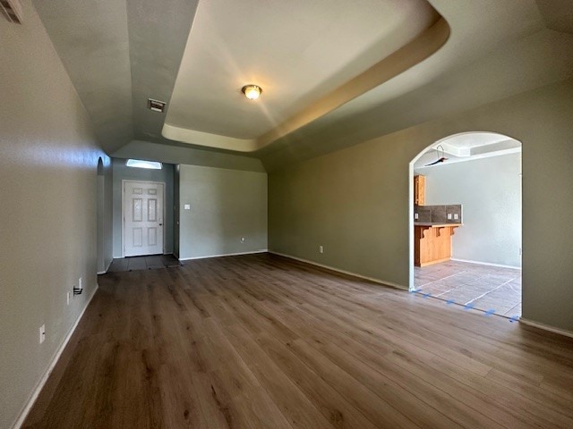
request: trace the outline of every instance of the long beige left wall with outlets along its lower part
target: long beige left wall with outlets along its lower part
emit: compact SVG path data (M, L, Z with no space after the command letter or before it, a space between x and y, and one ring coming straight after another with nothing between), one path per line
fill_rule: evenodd
M24 25L0 15L2 429L21 415L96 290L98 157L109 163L38 15L22 4ZM83 294L68 306L80 277Z

